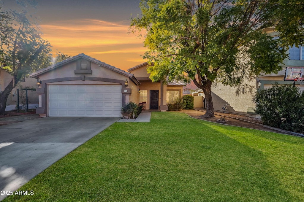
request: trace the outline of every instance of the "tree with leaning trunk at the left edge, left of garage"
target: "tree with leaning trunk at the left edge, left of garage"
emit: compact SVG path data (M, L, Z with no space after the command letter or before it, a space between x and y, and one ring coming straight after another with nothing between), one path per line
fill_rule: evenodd
M0 26L5 25L6 32L0 33L1 64L13 79L8 86L4 86L0 93L0 115L5 114L7 98L18 82L40 68L51 64L50 44L42 39L39 27L24 9L26 5L34 5L35 1L17 1L20 12L6 10L1 13ZM1 28L2 29L2 28Z

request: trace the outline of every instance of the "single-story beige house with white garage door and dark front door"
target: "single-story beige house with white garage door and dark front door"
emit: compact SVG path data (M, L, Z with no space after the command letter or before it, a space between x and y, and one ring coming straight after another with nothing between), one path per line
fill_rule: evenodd
M181 82L153 83L147 63L127 71L83 53L30 75L41 81L36 88L36 114L54 117L120 117L128 102L146 102L146 110L166 111L167 99L181 96Z

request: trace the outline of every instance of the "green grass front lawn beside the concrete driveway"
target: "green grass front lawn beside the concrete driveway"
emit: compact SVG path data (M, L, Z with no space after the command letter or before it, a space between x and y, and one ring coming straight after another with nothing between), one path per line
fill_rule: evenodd
M304 201L304 139L153 112L115 123L4 201Z

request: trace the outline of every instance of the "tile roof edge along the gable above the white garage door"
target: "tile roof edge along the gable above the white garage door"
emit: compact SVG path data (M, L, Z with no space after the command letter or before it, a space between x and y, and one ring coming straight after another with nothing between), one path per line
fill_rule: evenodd
M39 71L36 71L36 72L30 74L29 76L30 76L30 77L38 76L38 75L40 75L40 74L43 74L44 72L47 72L47 71L52 70L52 69L55 69L55 68L57 68L57 67L59 67L59 66L65 64L65 63L70 62L71 60L76 60L77 58L80 58L80 57L86 58L87 60L89 60L89 61L91 61L91 62L94 62L94 63L97 63L97 64L99 64L99 65L101 65L101 66L107 67L107 68L109 68L109 69L111 69L111 70L113 70L113 71L116 71L116 72L118 72L118 73L120 73L120 74L124 74L124 75L126 75L126 76L128 76L128 77L134 77L133 74L131 74L131 73L127 72L127 71L124 71L124 70L121 70L121 69L119 69L119 68L116 68L116 67L114 67L114 66L112 66L112 65L106 64L106 63L104 63L104 62L102 62L102 61L100 61L100 60L96 60L95 58L92 58L92 57L90 57L90 56L85 55L84 53L79 53L79 54L76 55L76 56L70 57L70 58L68 58L68 59L66 59L66 60L63 60L63 61L59 62L59 63L53 64L53 65L51 65L51 66L49 66L49 67L47 67L47 68L41 69L41 70L39 70ZM135 78L135 77L134 77L134 78Z

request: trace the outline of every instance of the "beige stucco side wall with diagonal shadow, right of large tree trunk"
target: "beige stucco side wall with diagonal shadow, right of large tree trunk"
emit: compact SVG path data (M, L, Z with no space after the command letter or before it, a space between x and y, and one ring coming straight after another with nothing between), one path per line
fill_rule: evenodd
M256 86L255 80L245 80L244 84L251 86ZM215 87L212 84L212 101L213 108L216 111L223 111L222 107L224 104L228 104L225 112L234 113L234 114L244 114L247 115L248 108L254 108L255 104L252 102L253 95L250 93L240 94L239 96L235 93L236 88L230 86L224 86L221 83L218 83Z

